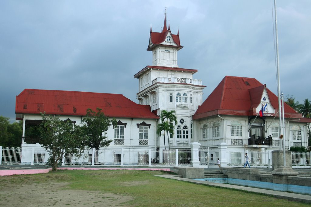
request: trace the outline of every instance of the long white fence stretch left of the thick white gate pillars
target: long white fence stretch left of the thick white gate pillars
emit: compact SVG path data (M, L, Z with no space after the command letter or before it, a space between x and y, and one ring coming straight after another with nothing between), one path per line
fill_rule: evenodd
M0 164L45 165L48 159L49 154L42 148L0 146ZM191 150L93 148L85 150L81 157L65 154L61 165L189 166L190 161Z

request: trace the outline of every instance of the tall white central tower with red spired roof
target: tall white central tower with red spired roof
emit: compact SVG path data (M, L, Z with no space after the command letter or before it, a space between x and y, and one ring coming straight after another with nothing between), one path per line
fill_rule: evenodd
M201 80L193 79L195 69L180 68L177 52L180 45L179 30L172 34L166 27L166 15L161 32L153 32L150 26L148 51L152 51L152 66L146 66L134 75L139 79L139 104L150 105L158 115L161 110L175 110L178 123L174 135L169 137L171 148L189 148L193 140L192 115L202 104ZM167 146L167 143L166 143ZM158 136L156 147L164 149L164 138Z

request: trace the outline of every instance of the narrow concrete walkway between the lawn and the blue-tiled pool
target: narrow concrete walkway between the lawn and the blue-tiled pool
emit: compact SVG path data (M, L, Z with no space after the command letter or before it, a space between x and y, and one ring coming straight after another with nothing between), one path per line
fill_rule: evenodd
M175 175L154 175L154 176L165 177L165 178L174 179L174 180L180 180L180 181L186 181L186 182L191 182L191 183L200 184L200 185L206 185L206 186L214 186L214 187L217 186L217 187L224 187L224 188L229 188L229 189L237 189L237 190L254 192L254 193L261 193L261 194L264 194L264 195L272 195L273 197L276 197L276 198L282 198L282 199L287 199L287 200L292 200L292 201L299 201L299 202L304 202L304 203L310 203L311 204L311 195L301 195L301 194L296 194L296 193L272 191L272 190L265 190L265 189L260 189L260 188L236 186L236 185L230 185L230 184L225 184L225 183L214 183L214 182L207 182L207 181L199 181L199 180L193 180L193 179L178 177L178 176L175 176Z

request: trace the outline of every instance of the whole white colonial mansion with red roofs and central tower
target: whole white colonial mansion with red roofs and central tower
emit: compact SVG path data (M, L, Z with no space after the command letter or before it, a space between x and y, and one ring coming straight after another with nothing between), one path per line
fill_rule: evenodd
M161 32L150 29L147 50L152 52L152 64L134 75L139 80L139 104L120 94L23 90L16 96L16 120L24 121L22 146L40 146L34 136L35 126L41 122L40 112L81 124L87 108L101 108L106 116L118 121L117 127L107 131L108 139L113 140L109 149L163 150L164 138L156 134L163 109L177 112L175 133L168 138L172 149L190 149L193 142L200 143L201 148L226 146L228 152L241 154L246 150L279 149L276 95L254 78L225 76L203 102L206 86L193 79L198 71L178 66L181 48L179 31L172 34L166 19ZM307 123L311 119L302 118L287 104L284 109L286 148L307 147Z

